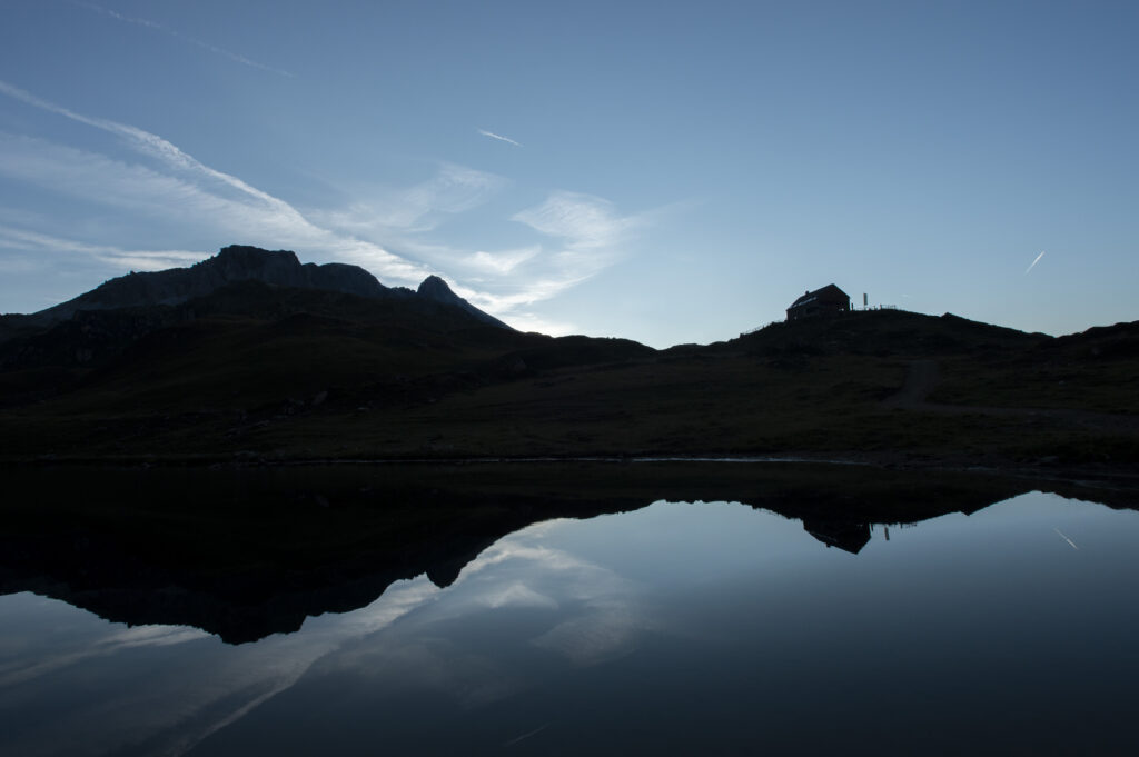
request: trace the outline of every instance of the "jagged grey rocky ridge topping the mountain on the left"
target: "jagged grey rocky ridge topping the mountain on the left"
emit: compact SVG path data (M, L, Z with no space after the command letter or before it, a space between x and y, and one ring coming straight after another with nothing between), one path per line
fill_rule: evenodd
M189 268L121 275L74 299L21 318L31 324L47 327L65 321L79 311L178 305L240 281L338 291L371 299L418 296L459 307L483 323L510 328L456 295L446 282L435 275L428 277L418 293L412 293L403 287L385 287L359 265L301 263L292 250L268 250L248 245L223 247L213 257Z

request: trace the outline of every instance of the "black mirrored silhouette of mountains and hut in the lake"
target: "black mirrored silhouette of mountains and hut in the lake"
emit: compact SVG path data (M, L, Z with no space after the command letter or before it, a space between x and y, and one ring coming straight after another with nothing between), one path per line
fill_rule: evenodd
M32 591L116 622L191 625L230 643L363 607L420 574L446 586L502 536L550 518L659 500L737 501L801 519L821 543L857 554L872 523L973 512L1041 488L965 475L710 463L32 470L9 479L9 491L35 497L6 505L0 592Z

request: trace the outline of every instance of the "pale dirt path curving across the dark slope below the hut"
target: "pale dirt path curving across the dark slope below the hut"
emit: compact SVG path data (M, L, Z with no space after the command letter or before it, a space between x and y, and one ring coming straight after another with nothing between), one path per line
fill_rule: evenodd
M1139 434L1139 415L1099 413L1090 410L1046 408L992 408L985 405L943 405L929 402L929 393L941 381L941 369L933 360L910 363L906 382L898 394L883 401L884 408L954 414L1041 418L1057 420L1089 430L1112 434Z

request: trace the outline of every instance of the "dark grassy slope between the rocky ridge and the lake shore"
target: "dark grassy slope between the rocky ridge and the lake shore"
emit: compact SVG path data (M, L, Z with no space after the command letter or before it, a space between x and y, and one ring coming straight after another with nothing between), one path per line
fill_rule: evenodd
M195 307L198 320L141 339L79 386L0 412L0 454L1139 461L1125 423L984 408L1125 418L1139 410L1131 327L1051 339L880 311L655 352L342 295L224 291ZM932 400L981 408L884 405L913 361L940 365Z

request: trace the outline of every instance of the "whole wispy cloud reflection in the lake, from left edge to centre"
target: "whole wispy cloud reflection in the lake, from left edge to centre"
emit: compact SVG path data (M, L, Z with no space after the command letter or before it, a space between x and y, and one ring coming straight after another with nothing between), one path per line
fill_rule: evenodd
M229 647L186 627L96 624L63 650L0 668L3 686L39 680L6 688L15 706L36 706L24 697L49 701L73 681L105 690L56 718L56 740L27 733L10 746L32 755L130 743L139 754L179 755L317 675L366 676L392 696L431 691L478 708L538 685L533 664L547 653L572 665L620 657L647 626L640 587L549 545L550 536L579 527L539 524L492 545L446 590L423 576L399 582L361 610L309 618L301 633L253 644ZM519 617L526 622L514 624ZM141 650L157 647L167 651L154 667Z

